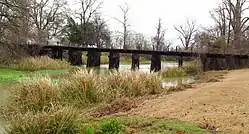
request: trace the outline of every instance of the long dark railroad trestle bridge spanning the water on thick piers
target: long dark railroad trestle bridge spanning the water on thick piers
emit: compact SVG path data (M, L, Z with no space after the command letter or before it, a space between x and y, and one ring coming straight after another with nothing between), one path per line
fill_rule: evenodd
M87 67L100 66L101 52L109 53L109 69L118 69L120 53L132 54L131 69L139 68L139 55L151 55L151 71L161 70L161 56L178 57L179 67L183 66L184 57L196 57L201 60L203 71L238 69L248 66L248 55L227 54L227 53L197 53L179 51L152 51L152 50L126 50L108 48L86 48L74 46L39 46L39 55L48 55L54 59L62 59L67 52L68 61L75 66L82 62L82 52L87 52Z

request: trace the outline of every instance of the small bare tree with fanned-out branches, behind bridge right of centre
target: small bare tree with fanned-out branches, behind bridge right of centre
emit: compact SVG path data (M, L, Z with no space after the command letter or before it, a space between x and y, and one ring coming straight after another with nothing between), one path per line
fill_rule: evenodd
M194 34L197 32L195 21L187 20L185 25L175 27L175 30L179 33L179 39L185 50L189 50L189 47L194 41Z

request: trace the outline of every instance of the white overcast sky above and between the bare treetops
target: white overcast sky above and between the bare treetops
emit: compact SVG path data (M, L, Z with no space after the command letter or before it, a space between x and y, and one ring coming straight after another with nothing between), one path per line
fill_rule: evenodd
M73 1L73 0L72 0ZM122 18L119 5L127 3L130 7L130 30L153 36L160 17L164 28L167 29L166 38L173 42L177 39L174 25L184 24L185 20L193 19L201 26L212 25L209 11L217 7L220 0L103 0L102 15L112 30L122 30L114 17Z

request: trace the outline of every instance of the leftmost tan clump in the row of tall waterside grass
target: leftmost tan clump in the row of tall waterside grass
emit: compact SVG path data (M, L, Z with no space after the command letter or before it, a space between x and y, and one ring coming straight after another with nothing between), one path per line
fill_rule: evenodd
M50 111L59 102L56 83L50 78L35 78L21 82L12 89L6 113Z

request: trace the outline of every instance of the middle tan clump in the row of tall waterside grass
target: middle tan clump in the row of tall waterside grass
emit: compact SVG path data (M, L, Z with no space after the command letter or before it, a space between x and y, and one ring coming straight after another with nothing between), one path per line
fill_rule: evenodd
M98 103L102 100L102 89L99 77L93 70L78 69L61 82L62 98L78 106Z

